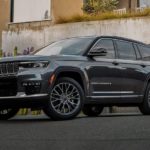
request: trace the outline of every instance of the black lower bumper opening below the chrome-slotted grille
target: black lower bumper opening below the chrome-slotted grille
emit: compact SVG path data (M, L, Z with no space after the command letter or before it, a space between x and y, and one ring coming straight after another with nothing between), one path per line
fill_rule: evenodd
M0 79L0 97L16 96L17 91L16 78Z

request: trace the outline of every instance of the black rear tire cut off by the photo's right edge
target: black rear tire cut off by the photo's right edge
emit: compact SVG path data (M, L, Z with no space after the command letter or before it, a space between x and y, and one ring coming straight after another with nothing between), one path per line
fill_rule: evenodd
M150 115L150 84L147 86L144 101L139 106L139 109L143 115Z

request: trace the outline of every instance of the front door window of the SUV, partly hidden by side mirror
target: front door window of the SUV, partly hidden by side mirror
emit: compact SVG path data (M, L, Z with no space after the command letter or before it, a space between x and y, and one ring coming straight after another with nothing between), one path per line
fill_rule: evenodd
M107 50L106 56L99 56L100 58L109 58L114 59L115 58L115 49L114 44L111 39L101 39L99 40L96 45L92 49L99 49L104 48Z

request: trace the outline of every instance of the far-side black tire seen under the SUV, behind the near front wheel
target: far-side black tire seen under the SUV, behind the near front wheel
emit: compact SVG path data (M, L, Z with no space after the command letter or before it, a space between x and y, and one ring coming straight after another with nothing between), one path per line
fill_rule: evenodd
M97 117L103 111L103 107L100 105L85 105L82 112L89 117Z

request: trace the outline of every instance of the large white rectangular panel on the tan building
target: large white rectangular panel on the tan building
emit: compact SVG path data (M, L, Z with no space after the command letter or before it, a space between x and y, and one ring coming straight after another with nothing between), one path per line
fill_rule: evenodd
M50 16L51 0L14 0L14 22L39 21Z

